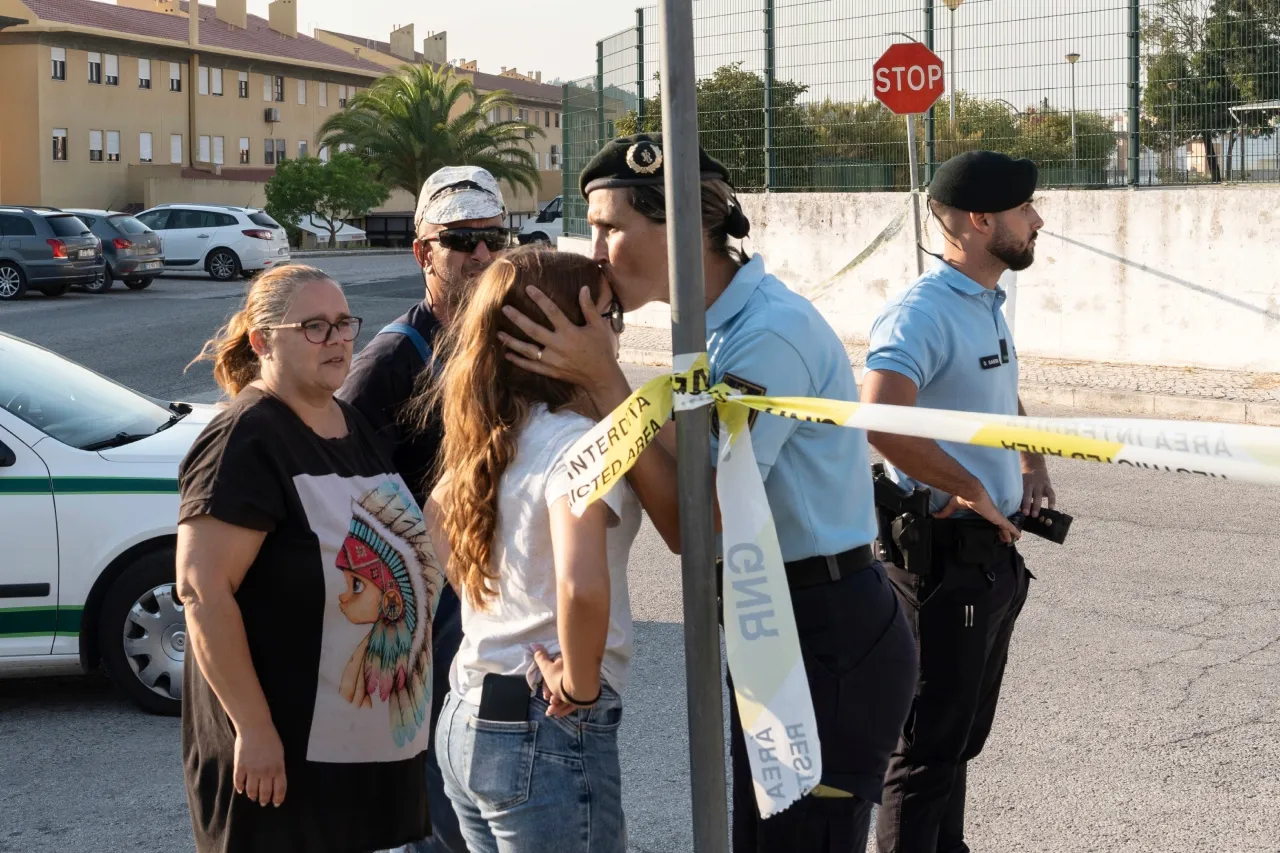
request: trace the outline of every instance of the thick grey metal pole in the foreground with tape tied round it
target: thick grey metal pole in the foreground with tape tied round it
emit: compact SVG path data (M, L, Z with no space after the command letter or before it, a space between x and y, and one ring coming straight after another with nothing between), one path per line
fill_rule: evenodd
M667 268L675 361L707 350L701 190L698 169L698 90L694 6L662 0L662 115L666 149ZM721 712L719 622L716 617L716 540L712 503L710 409L676 412L680 475L680 567L685 602L685 690L695 853L728 853L724 792L724 716Z

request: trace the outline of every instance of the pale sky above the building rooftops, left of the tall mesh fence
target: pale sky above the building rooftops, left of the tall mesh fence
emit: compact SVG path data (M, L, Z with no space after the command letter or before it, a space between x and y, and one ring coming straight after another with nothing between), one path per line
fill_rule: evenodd
M211 0L205 0L211 3ZM430 32L449 33L449 59L475 59L480 70L540 70L543 79L573 79L595 70L595 40L635 23L628 0L298 0L298 29L335 29L387 41L413 23L417 49ZM268 0L248 0L266 18ZM352 15L358 9L358 17Z

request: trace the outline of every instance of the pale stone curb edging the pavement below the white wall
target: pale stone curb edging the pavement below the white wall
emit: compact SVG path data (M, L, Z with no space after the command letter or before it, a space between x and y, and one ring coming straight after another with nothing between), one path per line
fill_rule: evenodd
M671 353L662 350L618 351L618 361L653 368L669 368ZM858 370L856 373L861 373ZM861 377L859 375L859 387ZM1103 388L1073 388L1055 386L1023 386L1023 402L1068 409L1091 409L1149 418L1224 421L1231 424L1257 424L1280 426L1280 403L1256 403L1244 400L1208 400L1204 397L1178 397L1152 394L1140 391L1107 391Z

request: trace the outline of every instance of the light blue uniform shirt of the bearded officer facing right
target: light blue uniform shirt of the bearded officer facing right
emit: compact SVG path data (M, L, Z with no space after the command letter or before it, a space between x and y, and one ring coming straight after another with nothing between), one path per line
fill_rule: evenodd
M890 300L877 318L867 369L892 370L914 382L920 391L916 406L1016 415L1018 351L1000 310L1004 304L1000 287L987 289L934 260L932 269ZM1023 502L1018 453L955 442L938 444L982 480L1002 514L1018 511ZM911 478L888 467L893 480L913 487ZM934 510L950 500L933 489Z

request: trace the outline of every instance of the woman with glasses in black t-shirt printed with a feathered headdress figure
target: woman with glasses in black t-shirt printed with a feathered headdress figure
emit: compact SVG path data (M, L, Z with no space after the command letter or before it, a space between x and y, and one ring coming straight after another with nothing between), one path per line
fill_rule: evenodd
M358 332L324 273L282 266L197 359L232 397L179 467L200 853L366 853L430 833L444 581L407 484L334 398Z

